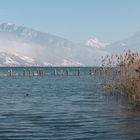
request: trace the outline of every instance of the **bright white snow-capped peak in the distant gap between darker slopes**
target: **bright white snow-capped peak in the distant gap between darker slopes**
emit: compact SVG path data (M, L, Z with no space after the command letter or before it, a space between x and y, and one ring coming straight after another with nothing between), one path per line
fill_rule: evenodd
M99 49L99 48L105 48L108 45L108 43L101 42L96 37L94 37L94 38L90 38L89 40L87 40L85 45L92 47L92 48Z

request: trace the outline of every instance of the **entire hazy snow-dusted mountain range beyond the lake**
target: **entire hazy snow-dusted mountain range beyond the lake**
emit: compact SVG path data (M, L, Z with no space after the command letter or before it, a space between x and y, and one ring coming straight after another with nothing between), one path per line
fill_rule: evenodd
M91 38L83 44L24 26L0 24L0 66L96 66L102 55L138 51L140 32L114 43Z

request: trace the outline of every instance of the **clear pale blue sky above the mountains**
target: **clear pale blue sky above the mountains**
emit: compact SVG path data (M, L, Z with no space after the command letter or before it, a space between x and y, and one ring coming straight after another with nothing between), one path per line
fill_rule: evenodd
M74 42L111 42L140 31L140 0L0 0L0 23L10 22Z

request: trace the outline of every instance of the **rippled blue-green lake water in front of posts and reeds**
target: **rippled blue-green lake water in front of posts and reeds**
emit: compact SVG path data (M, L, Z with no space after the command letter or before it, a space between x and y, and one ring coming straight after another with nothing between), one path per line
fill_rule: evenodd
M140 109L121 97L105 97L97 78L1 76L0 139L140 139Z

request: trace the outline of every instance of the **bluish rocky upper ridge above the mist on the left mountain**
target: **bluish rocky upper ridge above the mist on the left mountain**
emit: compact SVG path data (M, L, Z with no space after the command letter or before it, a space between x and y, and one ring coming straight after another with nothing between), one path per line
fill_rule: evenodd
M49 47L59 47L63 46L71 46L74 45L71 41L68 41L64 38L51 35L48 33L36 31L24 26L17 26L11 23L2 23L0 24L0 35L1 36L12 36L16 38L22 38L25 41L30 41L37 43L39 45L49 45ZM51 45L51 46L50 46Z

